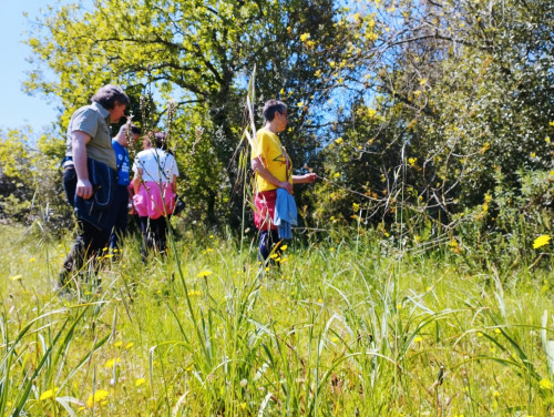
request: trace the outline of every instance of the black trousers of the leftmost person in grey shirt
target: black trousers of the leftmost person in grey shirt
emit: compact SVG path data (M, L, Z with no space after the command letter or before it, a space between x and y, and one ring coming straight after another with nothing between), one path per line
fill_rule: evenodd
M71 206L75 205L75 190L76 190L76 173L73 166L68 166L63 173L63 190ZM103 248L107 247L110 242L110 234L112 232L113 222L104 230L99 231L96 227L88 222L78 220L78 236L69 252L65 261L63 262L63 271L60 275L62 284L72 272L80 272L85 262L91 261L95 266L95 258L102 254Z

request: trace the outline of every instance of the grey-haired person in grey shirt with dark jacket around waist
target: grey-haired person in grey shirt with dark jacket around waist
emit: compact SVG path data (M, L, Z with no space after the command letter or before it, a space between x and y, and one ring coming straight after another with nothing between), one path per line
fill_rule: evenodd
M120 87L109 84L91 101L73 113L68 126L63 187L75 210L79 235L63 263L57 289L65 287L71 273L81 271L85 260L94 260L106 247L115 220L110 208L117 164L110 123L123 118L129 96Z

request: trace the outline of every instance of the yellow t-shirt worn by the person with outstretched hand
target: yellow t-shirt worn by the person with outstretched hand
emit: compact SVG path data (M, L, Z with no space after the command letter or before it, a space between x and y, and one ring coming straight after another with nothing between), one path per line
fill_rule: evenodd
M258 139L258 149L252 150L250 159L260 156L264 166L269 171L277 180L287 181L287 160L288 160L288 181L293 183L293 164L290 159L287 156L285 148L283 148L279 136L275 133L263 128L258 130L256 134ZM268 183L260 175L256 174L256 186L258 191L269 191L277 189L274 184Z

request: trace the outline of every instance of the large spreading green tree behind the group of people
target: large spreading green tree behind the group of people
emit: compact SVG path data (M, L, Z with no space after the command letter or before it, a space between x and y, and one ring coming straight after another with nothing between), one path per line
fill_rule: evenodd
M136 95L152 92L161 111L152 124L172 125L186 190L198 197L193 204L211 222L236 224L240 204L225 200L237 177L230 161L252 70L258 69L257 105L278 96L297 109L287 134L294 157L306 160L316 149L306 128L317 124L317 106L337 84L331 63L351 53L345 19L331 0L96 0L90 9L49 8L28 43L39 69L50 67L58 80L35 71L27 88L61 98L62 128L107 82ZM176 103L171 121L164 118L170 99ZM193 156L183 155L193 144Z

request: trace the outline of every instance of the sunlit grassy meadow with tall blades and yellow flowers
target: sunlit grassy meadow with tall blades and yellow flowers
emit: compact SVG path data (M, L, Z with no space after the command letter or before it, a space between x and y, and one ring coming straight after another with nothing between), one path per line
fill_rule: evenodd
M475 271L355 231L261 276L252 233L189 226L60 298L70 236L0 227L1 416L554 415L552 257Z

